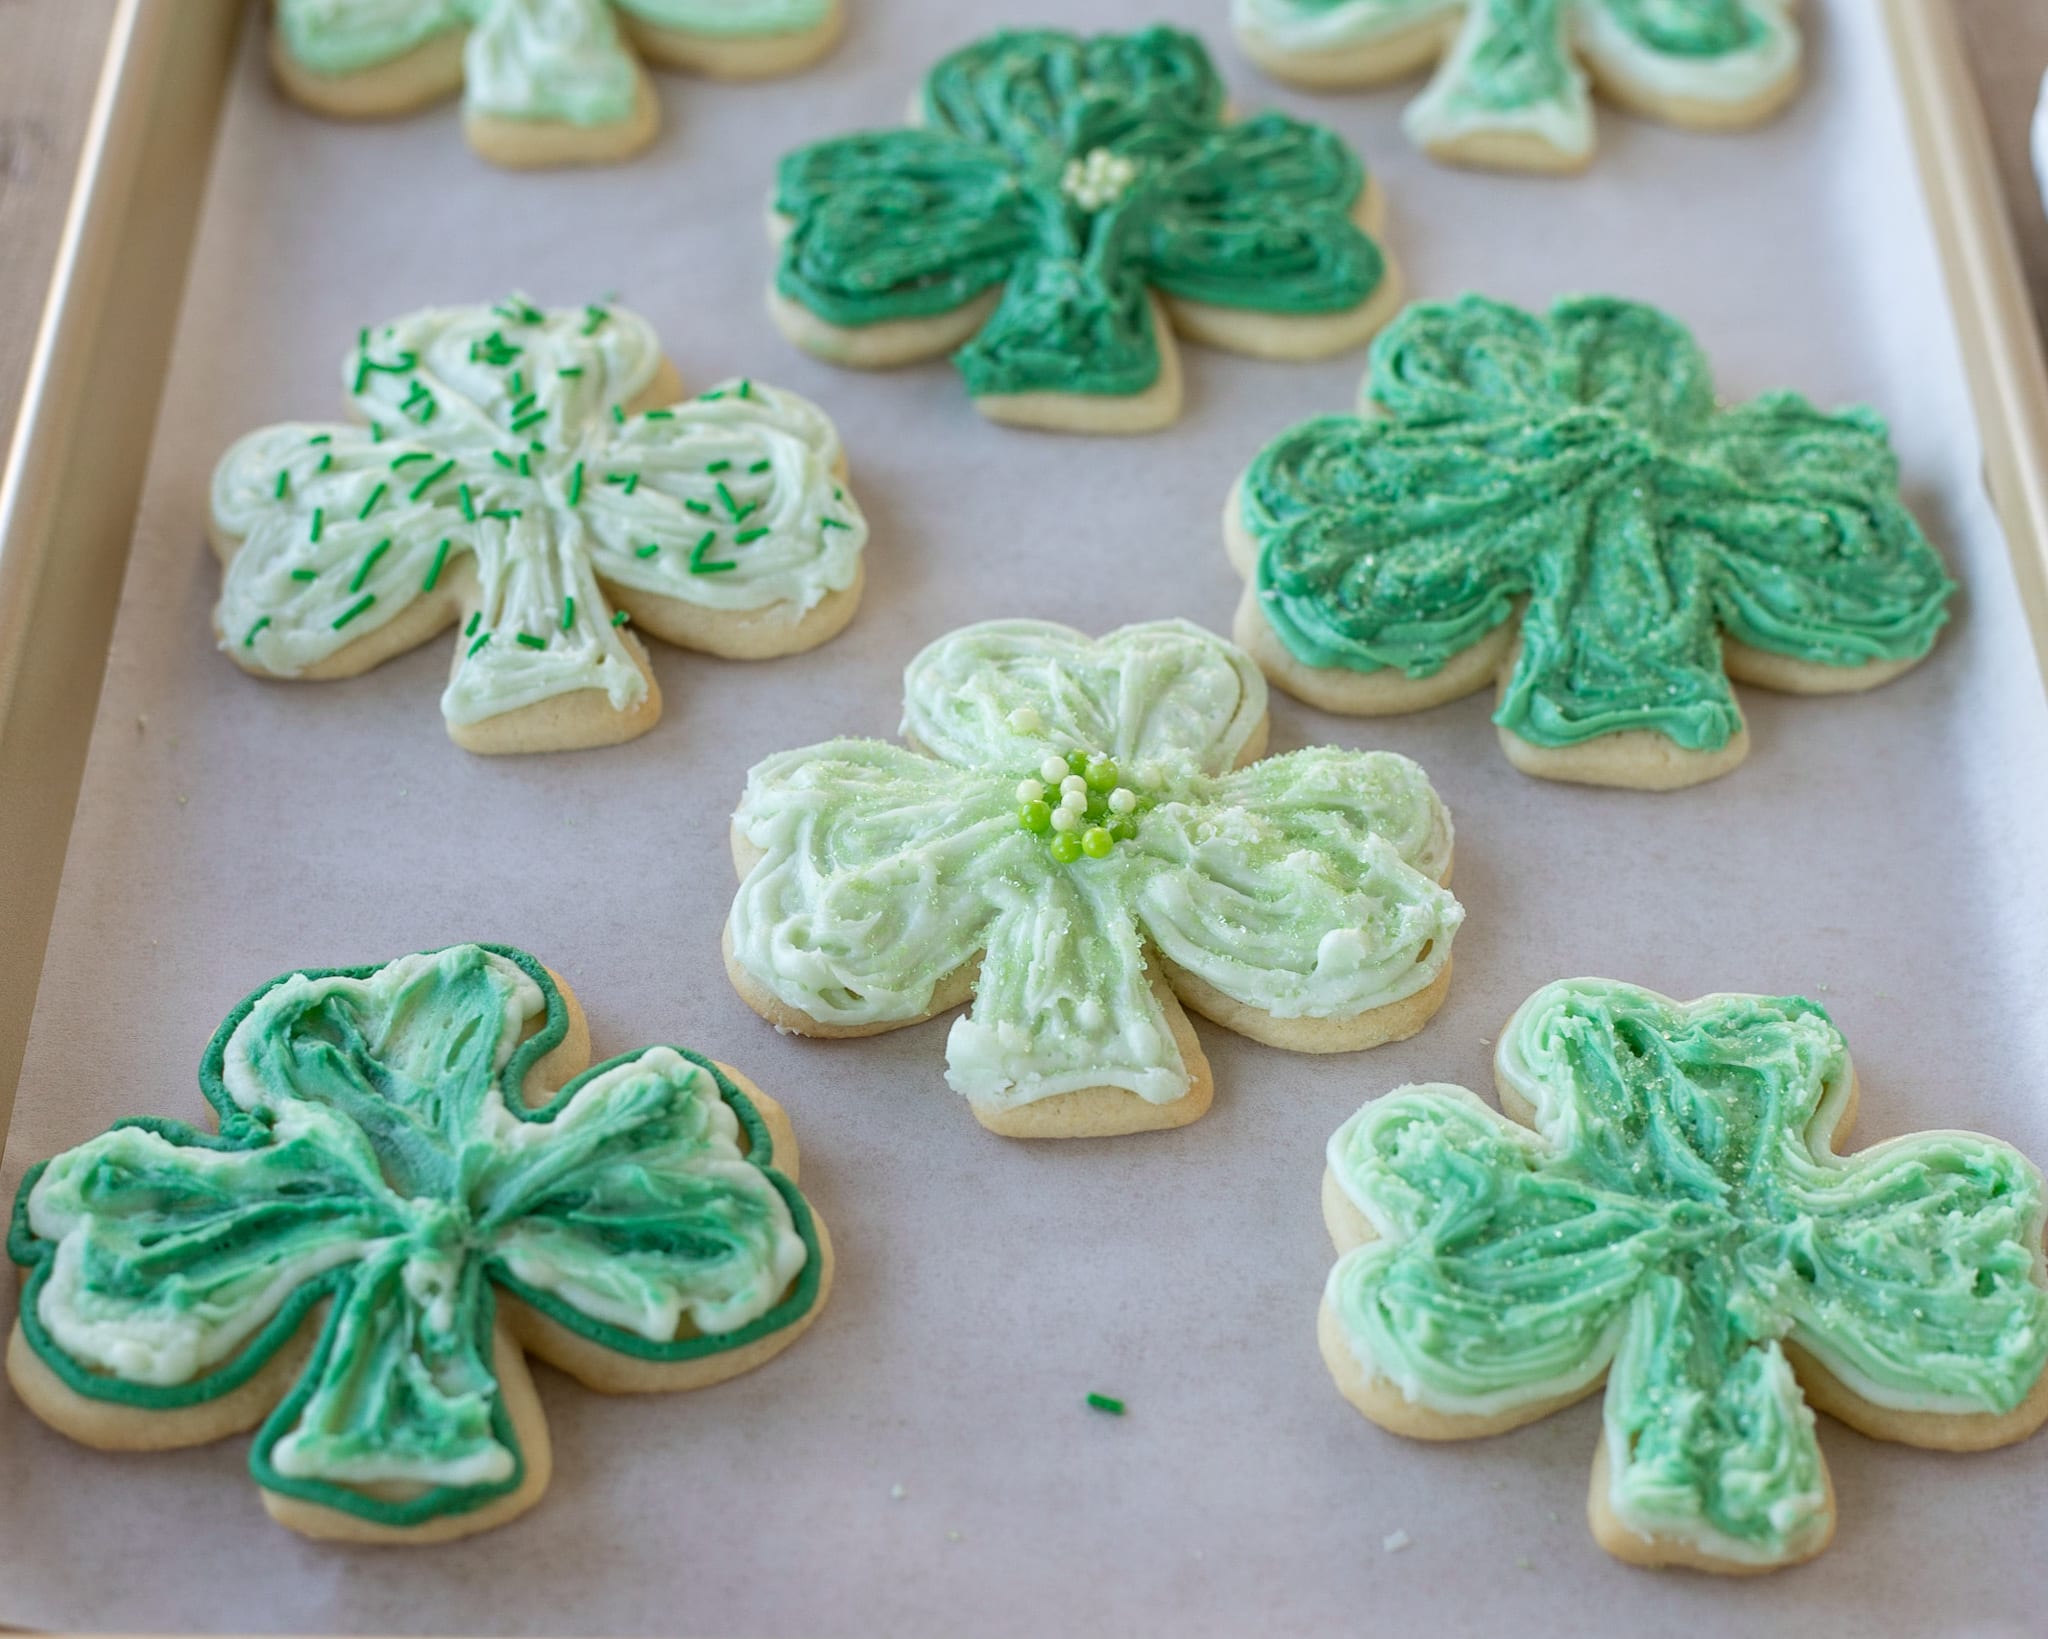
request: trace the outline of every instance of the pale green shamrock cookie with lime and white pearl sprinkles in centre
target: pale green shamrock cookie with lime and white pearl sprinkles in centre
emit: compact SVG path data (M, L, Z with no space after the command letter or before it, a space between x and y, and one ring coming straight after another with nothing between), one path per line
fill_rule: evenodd
M752 770L725 967L803 1035L973 1000L946 1080L991 1131L1194 1121L1212 1084L1184 1006L1337 1053L1444 1000L1464 910L1427 776L1391 752L1257 760L1266 682L1200 627L967 627L909 664L903 738Z

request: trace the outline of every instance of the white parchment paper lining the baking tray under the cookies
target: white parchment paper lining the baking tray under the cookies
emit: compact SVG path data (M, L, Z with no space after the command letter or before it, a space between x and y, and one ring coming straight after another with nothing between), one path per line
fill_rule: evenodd
M893 123L940 51L1024 14L1130 27L1145 0L854 0L844 51L788 84L662 78L635 166L516 176L457 117L330 125L248 41L115 635L6 1147L23 1168L119 1115L197 1119L207 1035L250 987L461 938L524 944L596 1047L682 1041L780 1096L840 1278L772 1367L606 1401L541 1371L555 1483L496 1535L344 1551L272 1526L244 1438L94 1455L0 1393L0 1619L86 1629L373 1633L2003 1635L2042 1621L2048 1438L1974 1457L1825 1424L1835 1547L1755 1582L1630 1571L1585 1528L1597 1401L1425 1446L1329 1383L1323 1141L1411 1080L1489 1088L1505 1014L1573 973L1677 996L1804 992L1864 1076L1858 1139L1974 1127L2048 1160L2048 709L2025 647L1876 8L1808 8L1815 84L1780 125L1698 137L1602 109L1573 182L1458 174L1399 137L1407 92L1284 94L1182 8L1241 102L1333 123L1382 168L1413 289L1526 303L1612 289L1686 316L1729 397L1798 385L1892 418L1911 500L1964 580L1927 666L1868 697L1749 692L1755 752L1665 797L1530 781L1475 697L1321 717L1274 748L1417 756L1458 822L1450 1002L1415 1041L1292 1057L1202 1028L1214 1110L1081 1145L983 1133L942 1082L944 1022L778 1037L727 987L725 826L760 756L891 733L918 645L965 621L1229 625L1217 514L1284 424L1352 402L1362 359L1188 350L1171 432L999 430L950 367L854 375L762 311L762 197L793 143ZM246 428L328 416L358 324L524 287L616 291L692 381L756 373L831 410L874 524L868 602L766 666L655 652L631 746L485 760L436 711L430 643L342 684L266 684L213 649L207 475ZM80 654L80 686L98 656ZM1122 1420L1083 1410L1098 1389ZM901 1485L901 1500L891 1487ZM1384 1541L1405 1532L1409 1547Z

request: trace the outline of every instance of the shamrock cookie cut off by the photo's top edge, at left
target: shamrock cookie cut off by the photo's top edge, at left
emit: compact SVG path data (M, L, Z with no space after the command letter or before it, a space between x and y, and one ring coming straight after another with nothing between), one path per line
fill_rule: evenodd
M485 160L604 164L662 123L639 59L721 80L793 74L840 25L840 0L276 0L270 64L324 115L381 119L461 90Z

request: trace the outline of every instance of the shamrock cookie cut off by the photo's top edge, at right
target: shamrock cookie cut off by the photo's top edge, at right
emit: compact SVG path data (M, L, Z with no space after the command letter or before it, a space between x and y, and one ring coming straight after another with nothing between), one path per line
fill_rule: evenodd
M1800 82L1792 0L1233 0L1233 16L1255 64L1305 86L1376 86L1442 57L1409 137L1501 170L1583 170L1593 86L1724 131L1769 119Z

